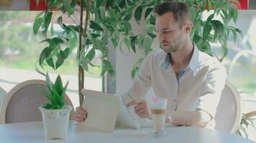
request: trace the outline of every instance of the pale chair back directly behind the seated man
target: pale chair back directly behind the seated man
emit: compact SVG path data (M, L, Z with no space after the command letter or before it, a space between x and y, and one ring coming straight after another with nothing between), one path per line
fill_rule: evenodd
M230 133L236 132L242 118L240 97L237 89L228 80L226 80L216 111L215 129Z

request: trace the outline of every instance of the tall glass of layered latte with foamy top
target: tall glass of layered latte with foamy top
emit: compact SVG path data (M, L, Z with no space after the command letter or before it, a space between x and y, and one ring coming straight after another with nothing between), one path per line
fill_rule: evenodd
M150 103L152 124L156 134L164 132L165 129L167 101L168 99L166 98L158 98L156 102Z

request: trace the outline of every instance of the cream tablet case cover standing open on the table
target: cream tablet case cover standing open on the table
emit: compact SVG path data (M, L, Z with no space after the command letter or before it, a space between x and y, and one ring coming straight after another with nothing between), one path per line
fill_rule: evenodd
M119 101L112 94L82 89L84 95L83 109L88 112L86 122L80 122L81 127L96 129L103 132L113 132L119 113Z

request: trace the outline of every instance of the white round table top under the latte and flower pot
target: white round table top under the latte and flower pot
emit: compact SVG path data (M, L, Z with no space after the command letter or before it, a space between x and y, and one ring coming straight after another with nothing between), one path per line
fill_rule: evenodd
M96 132L89 129L81 129L74 122L70 122L68 138L45 139L42 122L24 122L0 125L0 142L40 143L40 142L252 142L248 139L238 137L235 134L203 129L199 127L169 127L164 137L150 137L140 130L116 127L113 133Z

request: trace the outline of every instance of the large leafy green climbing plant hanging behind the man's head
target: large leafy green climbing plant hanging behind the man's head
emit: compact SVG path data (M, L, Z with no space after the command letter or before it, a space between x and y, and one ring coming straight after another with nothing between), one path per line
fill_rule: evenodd
M119 46L124 41L128 49L136 52L137 48L142 48L145 55L152 50L152 41L155 39L155 14L152 8L168 0L77 0L54 1L47 3L47 10L42 15L35 18L34 32L37 34L38 28L41 28L42 34L45 35L49 46L45 47L40 56L40 65L47 64L52 69L58 69L72 52L73 48L78 48L78 64L82 69L88 71L88 66L101 66L101 75L107 71L114 75L114 68L110 63L106 63L106 57L109 54L109 48L106 46L111 41L114 46ZM175 0L186 2L191 11L191 20L193 21L193 30L191 39L198 46L198 49L206 52L211 56L216 56L222 61L227 56L227 38L232 33L234 41L237 39L237 33L241 34L239 29L229 26L229 21L237 21L237 7L229 0ZM63 12L60 16L52 16L50 9L58 8ZM73 19L75 9L88 11L86 20L80 21L80 24L64 24L63 16L68 15ZM213 13L206 20L202 19L204 11ZM145 12L144 12L145 11ZM54 14L53 14L54 15ZM216 19L220 16L221 19ZM47 34L47 30L55 17L58 24L63 29L58 36ZM142 20L146 24L145 34L134 34L130 20L134 17L137 24ZM39 28L39 29L40 29ZM50 29L54 33L54 29ZM49 38L49 36L51 36ZM53 38L62 39L62 42L56 43ZM81 38L79 38L81 37ZM78 45L78 42L81 44ZM221 53L211 51L210 43L221 44ZM67 45L68 46L65 46ZM69 50L68 50L69 49ZM66 53L65 53L65 50ZM91 60L94 56L100 56L101 65L94 65ZM219 56L220 55L220 56ZM140 60L142 62L142 60ZM140 65L138 63L137 65ZM137 66L135 65L135 66ZM133 68L132 75L136 74L137 67ZM112 76L114 77L114 76Z

